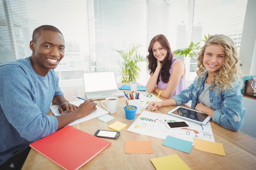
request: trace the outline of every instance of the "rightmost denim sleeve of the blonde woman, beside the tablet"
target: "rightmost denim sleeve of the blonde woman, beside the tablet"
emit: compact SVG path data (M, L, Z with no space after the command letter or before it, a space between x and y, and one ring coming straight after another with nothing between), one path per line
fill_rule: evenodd
M240 81L233 83L234 88L223 92L222 108L215 110L212 120L221 126L238 131L243 125L245 108L243 108L243 95L240 93ZM213 109L214 110L214 109Z

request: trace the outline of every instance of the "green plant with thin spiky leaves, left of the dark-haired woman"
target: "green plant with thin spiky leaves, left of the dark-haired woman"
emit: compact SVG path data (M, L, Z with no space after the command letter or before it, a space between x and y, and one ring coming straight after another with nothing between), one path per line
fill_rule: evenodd
M139 47L141 47L141 45L132 44L132 47L129 47L126 51L114 50L122 57L122 60L118 60L119 66L121 67L122 83L135 82L139 78L139 71L141 71L141 69L137 64L147 61L142 55L137 54Z

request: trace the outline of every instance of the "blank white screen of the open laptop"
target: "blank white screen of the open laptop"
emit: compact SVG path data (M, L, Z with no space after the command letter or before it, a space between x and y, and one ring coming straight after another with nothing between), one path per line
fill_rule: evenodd
M83 85L85 92L117 89L113 71L83 73Z

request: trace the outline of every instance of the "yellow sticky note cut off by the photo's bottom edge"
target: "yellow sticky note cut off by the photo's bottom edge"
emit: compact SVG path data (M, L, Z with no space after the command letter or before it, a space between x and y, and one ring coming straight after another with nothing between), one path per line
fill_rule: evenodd
M150 161L157 170L190 170L189 166L177 154L152 158Z

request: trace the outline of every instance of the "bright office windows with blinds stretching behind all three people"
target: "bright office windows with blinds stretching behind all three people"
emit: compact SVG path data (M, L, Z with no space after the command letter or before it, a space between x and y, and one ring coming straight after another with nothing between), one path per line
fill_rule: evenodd
M230 35L240 46L246 4L247 0L0 0L0 65L29 57L34 29L49 24L65 38L65 57L55 69L61 87L83 86L82 73L91 71L115 71L121 82L121 57L113 49L139 43L137 52L146 57L157 34L167 37L172 51L208 33ZM194 79L196 63L177 57L191 71L187 79ZM140 67L138 82L146 85L147 63Z

